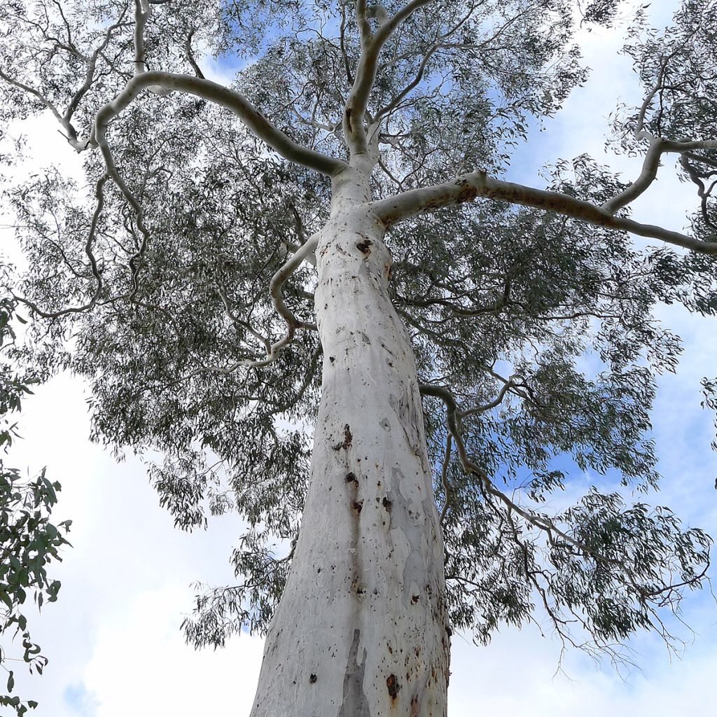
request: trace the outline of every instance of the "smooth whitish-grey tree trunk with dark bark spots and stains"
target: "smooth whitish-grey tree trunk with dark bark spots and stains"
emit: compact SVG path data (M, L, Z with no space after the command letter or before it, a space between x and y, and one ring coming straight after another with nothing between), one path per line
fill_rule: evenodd
M361 184L335 185L316 252L323 394L252 717L446 714L443 545L416 368Z

